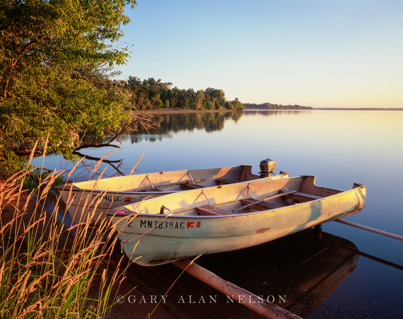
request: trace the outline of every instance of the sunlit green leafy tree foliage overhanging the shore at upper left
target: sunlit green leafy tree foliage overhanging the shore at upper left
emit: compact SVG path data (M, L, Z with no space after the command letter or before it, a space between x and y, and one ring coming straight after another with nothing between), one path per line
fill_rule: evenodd
M103 136L128 119L113 65L127 48L111 44L130 22L134 0L0 0L0 170L17 169L36 140L73 159L84 127Z

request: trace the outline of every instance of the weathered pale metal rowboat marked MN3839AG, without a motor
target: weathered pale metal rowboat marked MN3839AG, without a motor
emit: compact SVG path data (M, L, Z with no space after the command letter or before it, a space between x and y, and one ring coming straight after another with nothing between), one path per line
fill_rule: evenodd
M123 251L144 266L255 246L358 213L366 185L318 187L301 176L189 190L114 208Z

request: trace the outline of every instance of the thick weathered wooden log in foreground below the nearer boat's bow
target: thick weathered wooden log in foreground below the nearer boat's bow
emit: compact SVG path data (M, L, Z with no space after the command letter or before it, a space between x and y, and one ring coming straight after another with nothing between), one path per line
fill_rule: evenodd
M259 299L258 296L256 296L255 294L252 294L251 292L218 277L216 274L195 263L191 263L188 259L173 261L172 264L185 270L193 277L196 277L209 286L215 288L219 292L222 292L226 296L229 296L235 302L243 304L244 306L248 307L249 309L253 310L259 315L262 315L265 318L301 319L301 317L298 317L297 315L294 315L293 313L279 306L276 306L275 304L271 304L267 300L263 299L262 302L262 298Z

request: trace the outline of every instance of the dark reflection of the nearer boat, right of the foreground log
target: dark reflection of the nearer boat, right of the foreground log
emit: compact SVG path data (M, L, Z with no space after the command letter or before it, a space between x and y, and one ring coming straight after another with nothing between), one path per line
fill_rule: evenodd
M259 246L202 256L197 264L265 299L274 296L274 304L305 317L357 267L358 254L351 249L357 247L349 240L324 232L319 238L311 228Z

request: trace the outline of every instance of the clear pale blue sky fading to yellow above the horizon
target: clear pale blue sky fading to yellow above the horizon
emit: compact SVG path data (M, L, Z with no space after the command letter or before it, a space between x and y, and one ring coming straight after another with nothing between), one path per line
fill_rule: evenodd
M122 77L250 103L403 107L402 0L137 2Z

